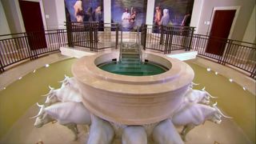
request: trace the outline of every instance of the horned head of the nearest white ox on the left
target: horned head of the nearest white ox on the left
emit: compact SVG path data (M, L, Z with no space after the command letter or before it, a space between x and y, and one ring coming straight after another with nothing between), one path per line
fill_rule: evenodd
M49 115L46 114L44 105L39 105L38 103L37 103L37 105L40 107L39 113L38 113L38 115L36 115L32 118L36 118L36 120L34 122L34 126L39 128L39 127L42 127L43 125L45 125L46 123L53 121L53 119L50 118Z

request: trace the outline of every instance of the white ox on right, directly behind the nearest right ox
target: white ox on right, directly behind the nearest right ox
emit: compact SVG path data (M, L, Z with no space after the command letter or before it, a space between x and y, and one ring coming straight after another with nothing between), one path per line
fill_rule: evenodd
M209 105L210 98L217 98L211 96L206 90L205 87L202 90L193 90L189 89L186 91L186 94L184 96L185 102L194 102L194 103L203 103L206 105Z

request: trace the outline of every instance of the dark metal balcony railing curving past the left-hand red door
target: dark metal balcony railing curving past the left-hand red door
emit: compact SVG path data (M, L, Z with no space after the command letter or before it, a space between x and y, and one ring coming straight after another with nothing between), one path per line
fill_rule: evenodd
M0 35L0 72L7 66L67 46L66 29Z

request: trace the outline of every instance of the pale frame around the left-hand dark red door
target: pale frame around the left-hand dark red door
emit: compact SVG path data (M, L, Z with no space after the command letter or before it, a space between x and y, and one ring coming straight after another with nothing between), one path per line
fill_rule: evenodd
M39 2L40 5L40 10L41 10L41 14L42 14L42 24L43 24L43 28L44 30L47 30L47 25L46 25L46 14L45 14L45 10L44 10L44 6L42 3L42 0L22 0L22 1L28 1L28 2ZM53 1L54 2L54 1ZM16 10L18 12L18 19L21 23L21 27L22 27L22 32L26 32L25 26L24 26L24 22L23 22L23 18L22 18L22 11L20 9L18 0L15 0L15 6L16 6Z

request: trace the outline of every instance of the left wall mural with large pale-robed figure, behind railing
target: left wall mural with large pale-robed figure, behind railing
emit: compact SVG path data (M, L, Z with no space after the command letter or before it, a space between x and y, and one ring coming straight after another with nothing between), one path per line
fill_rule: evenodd
M68 22L104 22L103 0L65 0Z

